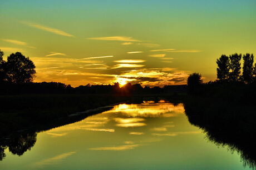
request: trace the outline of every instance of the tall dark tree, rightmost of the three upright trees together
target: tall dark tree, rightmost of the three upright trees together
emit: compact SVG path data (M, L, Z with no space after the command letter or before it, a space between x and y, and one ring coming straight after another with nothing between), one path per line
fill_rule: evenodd
M243 60L243 80L246 83L251 83L253 81L253 54L245 54Z

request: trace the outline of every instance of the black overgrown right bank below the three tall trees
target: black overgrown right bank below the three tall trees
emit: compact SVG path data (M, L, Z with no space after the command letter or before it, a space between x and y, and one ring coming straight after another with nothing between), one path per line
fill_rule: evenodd
M204 129L207 138L218 146L237 151L244 163L256 166L256 84L204 84L202 93L185 99L189 122Z

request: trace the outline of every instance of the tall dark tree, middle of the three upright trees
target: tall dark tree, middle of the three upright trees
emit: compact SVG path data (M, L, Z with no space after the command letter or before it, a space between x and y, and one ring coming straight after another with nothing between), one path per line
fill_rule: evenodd
M238 81L241 73L241 63L240 60L242 58L242 54L231 54L229 55L229 68L231 72L229 72L229 80L230 81Z

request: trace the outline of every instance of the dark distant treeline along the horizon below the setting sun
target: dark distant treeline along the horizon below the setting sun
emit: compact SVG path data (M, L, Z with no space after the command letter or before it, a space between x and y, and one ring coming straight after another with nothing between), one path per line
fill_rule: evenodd
M4 82L0 85L0 94L160 94L186 92L186 85L160 87L142 87L140 84L127 83L120 87L114 85L91 85L71 87L58 82L41 82L17 84Z

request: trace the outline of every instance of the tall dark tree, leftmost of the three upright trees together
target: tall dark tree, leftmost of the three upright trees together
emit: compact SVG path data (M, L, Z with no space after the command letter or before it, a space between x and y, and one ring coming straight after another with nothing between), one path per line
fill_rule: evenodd
M217 59L216 63L218 64L217 68L217 78L220 81L225 81L228 79L229 74L229 58L226 55L221 55L219 59Z

